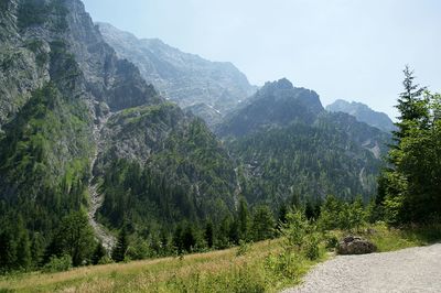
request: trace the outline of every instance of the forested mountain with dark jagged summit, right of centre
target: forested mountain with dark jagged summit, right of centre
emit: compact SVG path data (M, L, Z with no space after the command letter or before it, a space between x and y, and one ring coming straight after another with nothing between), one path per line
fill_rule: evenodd
M390 135L346 113L329 113L319 96L287 79L267 83L225 118L217 133L239 164L250 203L277 206L294 197L320 203L376 193Z

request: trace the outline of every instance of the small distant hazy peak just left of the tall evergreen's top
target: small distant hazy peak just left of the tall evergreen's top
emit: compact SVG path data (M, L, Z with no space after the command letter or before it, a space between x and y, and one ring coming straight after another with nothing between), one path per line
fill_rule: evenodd
M392 120L390 120L386 113L374 111L367 105L362 102L348 102L338 99L326 106L326 110L330 112L345 112L352 115L358 121L365 122L386 132L391 132L396 129Z

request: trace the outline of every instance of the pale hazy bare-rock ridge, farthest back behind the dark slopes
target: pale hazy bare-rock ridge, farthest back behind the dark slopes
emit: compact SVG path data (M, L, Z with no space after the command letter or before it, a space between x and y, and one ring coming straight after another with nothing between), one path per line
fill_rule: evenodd
M256 91L256 87L232 63L209 62L158 39L139 40L110 24L97 25L117 54L137 65L142 77L161 95L182 108L189 108L208 124L218 122Z

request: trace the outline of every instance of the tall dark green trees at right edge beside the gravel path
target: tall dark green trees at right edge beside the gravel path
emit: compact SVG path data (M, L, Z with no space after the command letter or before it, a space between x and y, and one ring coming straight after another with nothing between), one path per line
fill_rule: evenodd
M404 86L394 133L397 144L388 154L390 167L378 181L378 197L390 224L433 220L441 213L439 95L415 85L409 67Z

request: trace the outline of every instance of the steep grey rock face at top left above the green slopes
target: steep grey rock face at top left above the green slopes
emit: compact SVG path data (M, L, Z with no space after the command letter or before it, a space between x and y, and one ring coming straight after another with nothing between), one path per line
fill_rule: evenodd
M62 2L64 12L51 10L50 1L39 2L39 6L45 6L42 19L28 25L20 19L20 8L28 6L26 1L1 2L0 129L28 101L33 90L54 82L57 70L68 65L66 61L63 64L50 62L61 42L65 46L63 50L73 55L72 64L80 70L75 93L71 87L65 88L69 96L88 100L90 105L104 101L112 111L163 101L133 64L117 57L80 1Z

